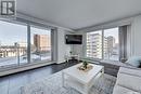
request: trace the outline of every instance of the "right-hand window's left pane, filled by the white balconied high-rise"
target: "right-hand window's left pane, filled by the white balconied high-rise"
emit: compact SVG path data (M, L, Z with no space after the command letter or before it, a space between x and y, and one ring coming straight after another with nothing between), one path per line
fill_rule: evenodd
M87 33L87 57L102 58L102 31Z

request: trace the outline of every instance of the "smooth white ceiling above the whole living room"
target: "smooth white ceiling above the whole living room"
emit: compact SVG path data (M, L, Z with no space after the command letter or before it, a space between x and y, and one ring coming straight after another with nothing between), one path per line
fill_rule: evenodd
M141 13L141 0L16 0L17 11L79 29Z

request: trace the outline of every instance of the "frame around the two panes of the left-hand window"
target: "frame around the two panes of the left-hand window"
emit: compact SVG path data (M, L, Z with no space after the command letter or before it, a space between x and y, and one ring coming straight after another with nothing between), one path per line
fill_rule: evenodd
M16 24L16 25L23 25L23 26L26 26L26 33L27 33L27 37L26 37L26 41L27 41L27 63L24 63L24 64L21 64L21 63L17 63L16 65L8 65L8 66L0 66L0 69L5 69L5 68L13 68L13 67L20 67L20 66L25 66L25 65L28 65L28 64L39 64L39 63L44 63L47 62L47 59L43 59L43 61L39 61L39 62L35 62L35 63L31 63L30 62L30 28L31 27L35 27L35 28L39 28L39 29L44 29L44 30L50 30L50 36L51 36L51 39L52 40L52 28L54 27L50 27L50 26L47 26L44 24L40 24L40 23L34 23L34 22L28 22L28 21L24 21L24 19L13 19L13 21L7 21L7 19L0 19L1 22L5 22L5 23L11 23L11 24ZM52 43L52 41L51 41ZM52 45L51 45L51 61L48 61L48 62L52 62L53 57L52 57ZM48 63L47 62L47 63Z

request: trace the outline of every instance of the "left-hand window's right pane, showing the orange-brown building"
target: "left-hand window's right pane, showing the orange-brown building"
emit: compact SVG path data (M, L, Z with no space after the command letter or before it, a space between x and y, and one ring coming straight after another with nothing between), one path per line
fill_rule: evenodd
M30 27L30 62L51 61L51 31Z

